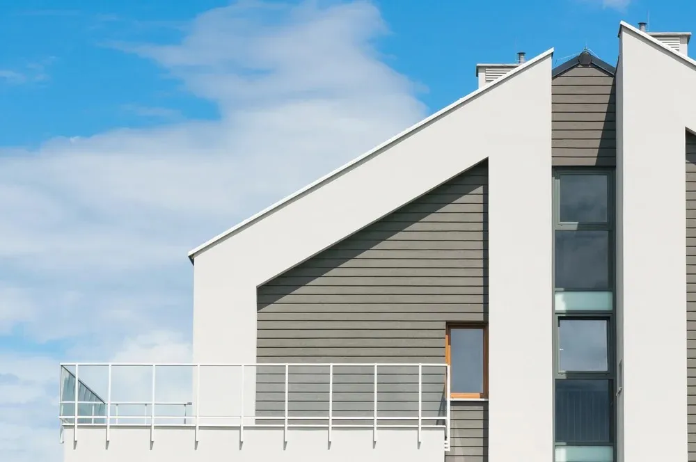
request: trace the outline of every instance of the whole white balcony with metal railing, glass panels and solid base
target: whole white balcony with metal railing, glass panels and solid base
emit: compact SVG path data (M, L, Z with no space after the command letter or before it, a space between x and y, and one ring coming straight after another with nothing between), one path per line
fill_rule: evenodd
M61 376L66 462L434 461L450 447L445 364L73 363Z

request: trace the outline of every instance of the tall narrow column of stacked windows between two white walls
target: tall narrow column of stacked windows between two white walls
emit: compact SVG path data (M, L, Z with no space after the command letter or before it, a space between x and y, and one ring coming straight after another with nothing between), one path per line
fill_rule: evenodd
M554 175L555 461L614 461L612 172Z

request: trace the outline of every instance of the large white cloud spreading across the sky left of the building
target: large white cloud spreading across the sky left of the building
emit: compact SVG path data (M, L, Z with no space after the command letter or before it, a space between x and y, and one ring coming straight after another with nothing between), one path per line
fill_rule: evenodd
M247 2L186 30L119 47L217 104L219 120L0 149L3 332L63 344L61 360L190 358L187 251L424 116L374 47L386 26L370 3ZM61 460L58 360L18 351L0 364L27 402L0 407L3 461Z

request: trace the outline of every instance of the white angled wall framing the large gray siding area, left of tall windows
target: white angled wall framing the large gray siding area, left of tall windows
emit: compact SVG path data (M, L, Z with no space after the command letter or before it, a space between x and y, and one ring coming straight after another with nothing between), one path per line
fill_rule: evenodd
M489 158L490 461L551 461L552 51L198 253L194 360L255 363L258 285ZM249 415L251 374L246 400Z

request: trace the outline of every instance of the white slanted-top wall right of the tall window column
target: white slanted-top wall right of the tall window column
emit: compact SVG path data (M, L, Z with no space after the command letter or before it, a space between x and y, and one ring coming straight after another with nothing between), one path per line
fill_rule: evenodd
M623 460L687 460L685 129L696 67L620 34Z

